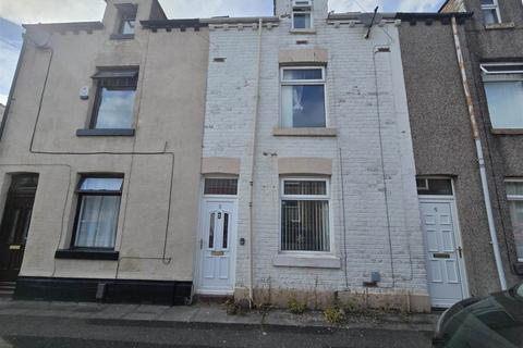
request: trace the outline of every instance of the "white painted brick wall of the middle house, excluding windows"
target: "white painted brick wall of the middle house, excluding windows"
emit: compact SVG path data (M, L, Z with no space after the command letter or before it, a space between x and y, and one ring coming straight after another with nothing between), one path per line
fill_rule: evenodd
M285 0L282 0L285 1ZM323 2L318 5L318 2ZM278 11L285 5L278 4ZM340 149L343 163L346 279L349 289L361 289L370 273L380 272L380 287L393 286L384 172L387 178L393 290L426 295L426 271L419 210L415 188L414 157L403 86L398 30L393 24L375 27L370 39L366 28L346 24L336 28L326 23L326 0L316 0L315 35L290 34L290 20L281 18L264 28L262 46L260 104L254 176L254 285L275 289L323 290L345 288L343 210ZM280 13L281 14L281 13ZM388 35L385 34L388 33ZM390 37L389 37L390 36ZM307 40L308 45L296 45ZM376 47L390 52L374 54ZM328 125L338 137L275 137L279 124L279 63L282 49L327 49ZM204 157L241 159L239 187L239 235L236 287L248 284L248 153L256 105L257 29L211 28ZM376 74L379 86L380 123L377 113ZM224 58L224 62L215 62ZM380 127L384 151L381 162ZM266 154L264 154L264 152ZM317 157L332 159L331 235L333 254L341 269L273 266L279 250L280 202L278 158ZM238 243L238 240L236 240Z

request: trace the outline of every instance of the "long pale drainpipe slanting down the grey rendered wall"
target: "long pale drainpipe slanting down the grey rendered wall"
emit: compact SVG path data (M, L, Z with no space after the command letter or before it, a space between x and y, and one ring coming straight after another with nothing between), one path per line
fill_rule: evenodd
M496 225L494 223L492 204L490 201L490 192L488 190L487 171L485 169L485 158L483 156L482 139L479 136L479 127L477 126L476 112L474 110L474 102L472 100L471 89L469 88L469 78L466 76L465 61L463 59L463 52L461 49L460 36L458 33L458 23L455 16L451 17L452 34L454 37L455 54L458 55L458 63L460 65L461 80L463 84L463 91L466 98L466 105L469 108L469 116L471 121L471 127L473 133L474 142L476 144L477 161L479 164L479 175L482 177L483 198L485 201L485 208L487 210L488 231L490 233L490 239L494 249L494 258L496 261L496 268L498 270L499 283L502 290L507 290L507 279L504 277L503 263L501 259L501 252L499 251L498 234Z

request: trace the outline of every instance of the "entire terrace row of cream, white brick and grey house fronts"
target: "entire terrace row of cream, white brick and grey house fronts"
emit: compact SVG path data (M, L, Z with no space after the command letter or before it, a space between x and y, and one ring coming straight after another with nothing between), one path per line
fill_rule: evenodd
M519 114L499 100L520 65L489 45L518 25L469 7L168 20L108 0L100 23L27 25L0 281L25 299L413 311L516 282Z

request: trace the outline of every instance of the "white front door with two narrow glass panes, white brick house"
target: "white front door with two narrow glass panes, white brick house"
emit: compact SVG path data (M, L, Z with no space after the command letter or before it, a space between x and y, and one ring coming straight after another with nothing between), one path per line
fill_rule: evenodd
M231 295L234 286L235 200L204 199L198 294Z

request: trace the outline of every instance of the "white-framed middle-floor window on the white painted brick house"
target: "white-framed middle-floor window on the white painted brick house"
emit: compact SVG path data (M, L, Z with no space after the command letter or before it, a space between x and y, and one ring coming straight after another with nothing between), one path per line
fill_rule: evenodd
M327 126L324 66L281 69L281 127Z

